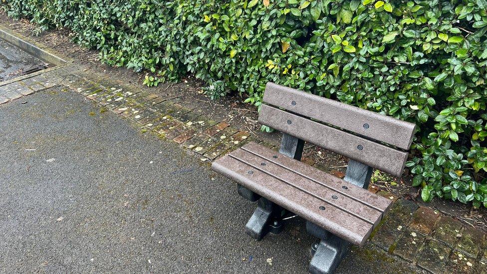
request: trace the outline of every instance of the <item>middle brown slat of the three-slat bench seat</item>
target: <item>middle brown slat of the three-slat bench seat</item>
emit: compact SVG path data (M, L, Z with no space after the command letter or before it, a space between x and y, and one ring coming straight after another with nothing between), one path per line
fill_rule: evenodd
M246 165L253 167L254 169L272 176L273 178L289 186L296 188L299 191L305 192L306 194L321 200L329 206L345 211L350 215L366 221L372 226L375 226L376 223L382 219L382 212L372 209L347 196L343 196L336 191L330 190L323 185L300 176L299 174L274 164L271 161L262 159L255 154L249 153L248 151L237 149L232 152L230 156L245 163ZM261 165L262 163L265 165ZM333 197L335 197L335 199ZM319 207L320 205L316 206Z

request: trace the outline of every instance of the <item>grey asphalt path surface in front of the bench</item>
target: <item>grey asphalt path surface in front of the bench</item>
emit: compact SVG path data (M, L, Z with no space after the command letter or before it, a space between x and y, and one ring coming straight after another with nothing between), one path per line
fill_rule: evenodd
M199 157L75 92L0 106L0 273L307 273L303 221L256 242L253 209ZM371 246L338 270L415 271Z

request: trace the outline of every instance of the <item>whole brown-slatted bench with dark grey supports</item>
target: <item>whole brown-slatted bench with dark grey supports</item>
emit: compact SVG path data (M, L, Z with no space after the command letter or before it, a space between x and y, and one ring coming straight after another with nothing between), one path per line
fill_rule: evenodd
M292 88L267 83L258 121L283 133L279 152L248 143L212 164L257 209L246 233L282 231L290 213L306 220L311 273L333 273L350 244L362 247L392 201L367 190L373 168L400 177L415 125ZM349 158L344 179L302 162L304 142Z

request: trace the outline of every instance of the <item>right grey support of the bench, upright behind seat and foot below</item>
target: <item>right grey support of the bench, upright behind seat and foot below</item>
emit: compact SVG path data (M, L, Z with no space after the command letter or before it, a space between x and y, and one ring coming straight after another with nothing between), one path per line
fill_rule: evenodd
M350 159L343 180L367 189L372 177L372 170L371 167ZM309 234L320 239L319 243L311 247L313 258L309 263L309 272L312 274L334 273L347 255L350 243L310 222L306 222L306 230Z

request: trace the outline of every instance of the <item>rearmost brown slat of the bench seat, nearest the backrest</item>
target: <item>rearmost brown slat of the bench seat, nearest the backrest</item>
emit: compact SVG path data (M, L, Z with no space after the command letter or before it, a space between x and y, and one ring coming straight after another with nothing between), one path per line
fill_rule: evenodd
M288 168L294 173L301 175L308 180L319 183L320 185L336 191L343 196L347 196L350 199L358 201L370 208L373 208L380 212L386 212L391 206L391 201L382 196L370 193L361 187L357 187L353 184L349 184L342 179L336 178L326 172L323 172L314 167L308 166L302 162L296 161L292 158L279 154L269 148L262 145L250 142L242 147L243 150L259 155L260 157L267 159L277 165ZM277 158L274 158L277 156ZM346 186L346 189L343 188Z

